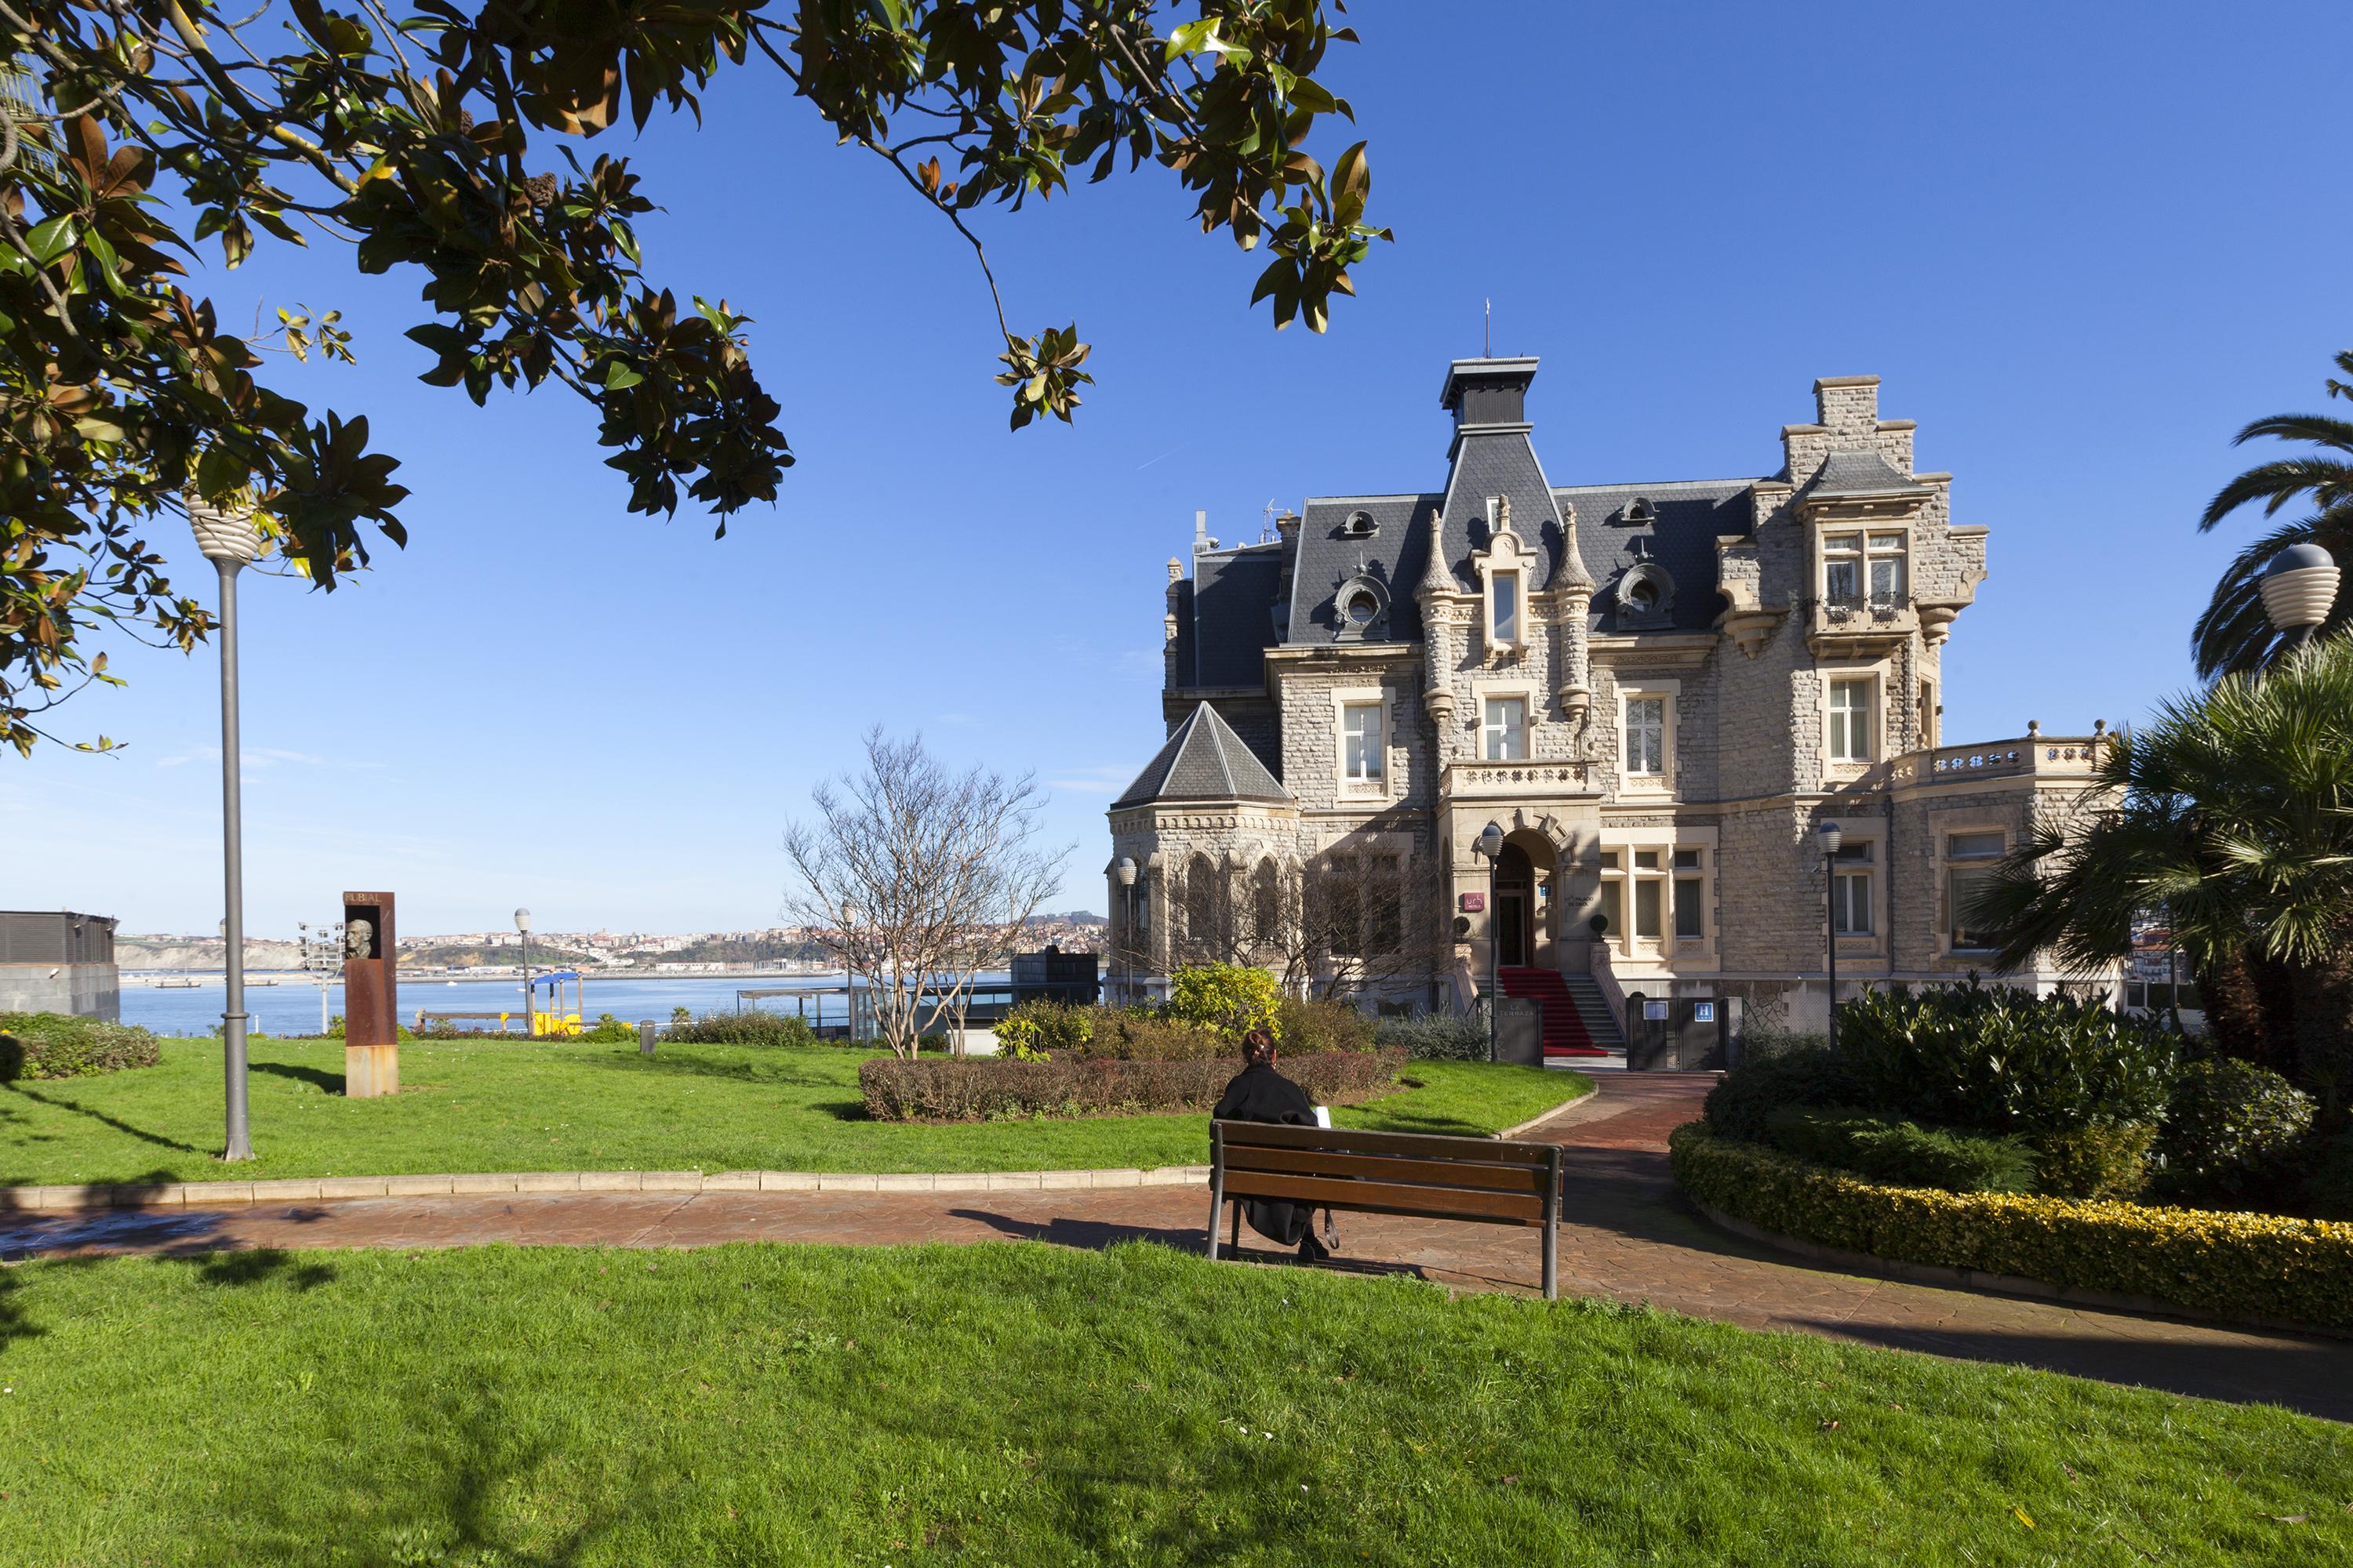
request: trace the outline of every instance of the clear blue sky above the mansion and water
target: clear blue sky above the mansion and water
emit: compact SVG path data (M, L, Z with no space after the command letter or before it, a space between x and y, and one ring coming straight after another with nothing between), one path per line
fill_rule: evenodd
M1555 484L1758 475L1814 376L1918 418L1993 576L1946 649L1946 736L2132 719L2252 524L2193 520L2228 435L2320 402L2348 346L2341 5L1459 5L1362 0L1329 80L1398 242L1327 336L1242 301L1259 261L1158 172L984 214L1024 331L1078 320L1073 430L1005 430L955 235L765 71L628 150L680 294L748 310L800 465L711 538L624 510L569 393L475 409L414 376L416 280L266 254L224 317L341 306L358 369L280 371L405 458L412 545L334 595L247 576L247 919L388 886L402 929L776 919L779 832L871 724L1035 769L1101 907L1104 806L1160 738L1162 562L1193 508L1435 487L1445 362L1541 355ZM600 146L605 146L600 141ZM1322 148L1327 155L1341 143ZM172 529L188 583L209 571ZM209 602L209 583L205 583ZM216 668L0 762L9 907L219 917Z

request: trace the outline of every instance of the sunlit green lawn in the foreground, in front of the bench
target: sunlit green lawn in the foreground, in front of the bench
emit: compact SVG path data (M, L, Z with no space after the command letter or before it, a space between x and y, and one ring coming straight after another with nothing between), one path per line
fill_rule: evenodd
M28 1262L0 1387L26 1568L2353 1559L2329 1422L1148 1244Z

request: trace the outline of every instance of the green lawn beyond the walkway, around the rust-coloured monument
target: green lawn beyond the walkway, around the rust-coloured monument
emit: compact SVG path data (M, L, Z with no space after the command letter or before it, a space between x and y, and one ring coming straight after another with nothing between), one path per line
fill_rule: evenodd
M400 1093L344 1098L344 1046L252 1044L252 1164L224 1166L221 1048L162 1041L162 1065L0 1086L0 1185L421 1175L464 1171L1082 1171L1209 1157L1207 1117L878 1124L845 1048L416 1041ZM1412 1063L1346 1126L1489 1135L1591 1079Z

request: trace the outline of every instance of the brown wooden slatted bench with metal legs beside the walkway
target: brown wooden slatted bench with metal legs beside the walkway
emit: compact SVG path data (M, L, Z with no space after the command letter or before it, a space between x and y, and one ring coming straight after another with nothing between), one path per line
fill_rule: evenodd
M1560 1145L1212 1121L1212 1260L1226 1204L1240 1251L1242 1199L1541 1227L1544 1300L1560 1295Z

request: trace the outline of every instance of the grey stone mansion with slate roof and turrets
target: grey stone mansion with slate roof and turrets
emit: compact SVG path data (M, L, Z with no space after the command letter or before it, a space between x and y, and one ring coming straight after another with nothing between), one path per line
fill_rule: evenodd
M1534 376L1447 369L1435 491L1313 496L1245 545L1195 520L1169 738L1111 804L1132 983L1275 961L1252 943L1334 877L1358 891L1320 969L1393 1006L1548 971L1821 1027L1826 926L1842 994L1988 969L1969 889L2092 788L2101 736L1944 743L1986 529L1913 470L1913 421L1880 418L1875 376L1824 378L1772 475L1555 487Z

